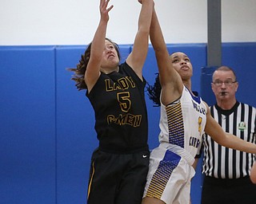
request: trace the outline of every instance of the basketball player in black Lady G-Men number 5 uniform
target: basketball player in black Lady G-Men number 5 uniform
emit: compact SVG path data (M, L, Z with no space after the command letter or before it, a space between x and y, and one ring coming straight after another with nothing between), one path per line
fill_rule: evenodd
M140 204L149 167L148 123L142 67L149 43L153 0L141 12L133 50L119 65L118 45L106 38L110 0L100 0L100 22L75 75L95 112L99 147L91 159L88 204ZM85 133L86 134L86 133ZM86 136L86 135L85 135Z

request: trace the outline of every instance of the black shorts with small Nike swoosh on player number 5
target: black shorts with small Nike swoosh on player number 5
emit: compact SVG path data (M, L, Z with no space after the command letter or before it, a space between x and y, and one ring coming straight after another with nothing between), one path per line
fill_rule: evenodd
M88 204L141 204L150 151L113 154L96 150L92 155Z

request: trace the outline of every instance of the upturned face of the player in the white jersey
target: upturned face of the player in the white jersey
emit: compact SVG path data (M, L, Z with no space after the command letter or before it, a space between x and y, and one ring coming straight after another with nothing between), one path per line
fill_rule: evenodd
M170 55L174 69L182 77L182 80L190 79L193 75L193 66L190 58L185 53L173 53Z

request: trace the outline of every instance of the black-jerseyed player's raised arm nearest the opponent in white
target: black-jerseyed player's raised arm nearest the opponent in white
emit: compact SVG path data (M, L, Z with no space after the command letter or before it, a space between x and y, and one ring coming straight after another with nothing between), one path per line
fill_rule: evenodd
M142 8L138 18L138 32L134 39L134 48L126 59L138 77L142 79L142 68L146 61L146 55L149 47L150 22L152 18L153 0L138 0Z

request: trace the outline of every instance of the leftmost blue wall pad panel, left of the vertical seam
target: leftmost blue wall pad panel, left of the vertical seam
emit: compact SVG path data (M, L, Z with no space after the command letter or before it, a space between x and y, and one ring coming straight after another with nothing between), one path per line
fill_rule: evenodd
M54 47L0 47L0 202L55 203Z

